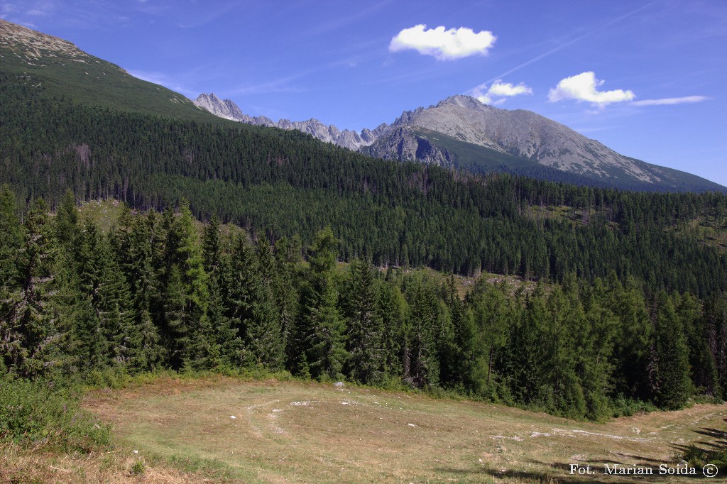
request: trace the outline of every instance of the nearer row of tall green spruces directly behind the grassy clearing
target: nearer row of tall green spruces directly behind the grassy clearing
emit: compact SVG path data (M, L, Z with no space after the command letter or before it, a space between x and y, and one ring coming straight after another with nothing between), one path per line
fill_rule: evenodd
M21 221L22 219L22 221ZM400 385L603 419L727 388L727 298L647 295L616 273L563 283L379 270L320 230L273 245L259 234L200 237L175 214L124 209L109 233L69 191L55 217L0 193L0 369L24 379L171 368L288 370Z

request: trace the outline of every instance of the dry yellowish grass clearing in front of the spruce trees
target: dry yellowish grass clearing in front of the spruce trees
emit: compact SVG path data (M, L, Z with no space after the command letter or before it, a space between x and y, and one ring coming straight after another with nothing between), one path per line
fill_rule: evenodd
M698 405L595 424L400 392L221 377L97 392L86 406L113 423L121 453L137 448L170 469L177 462L196 476L242 483L577 482L569 464L670 463L687 443L722 438L727 416L727 406ZM171 482L161 479L145 482ZM683 482L660 479L650 481Z

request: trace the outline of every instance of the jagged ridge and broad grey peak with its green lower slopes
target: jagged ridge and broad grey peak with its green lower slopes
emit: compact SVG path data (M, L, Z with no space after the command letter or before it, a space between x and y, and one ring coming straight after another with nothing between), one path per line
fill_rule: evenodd
M405 111L391 124L360 133L326 126L317 119L275 122L248 116L235 102L214 94L200 94L194 103L222 118L297 129L374 158L635 190L725 190L693 174L623 156L537 113L495 108L465 95Z

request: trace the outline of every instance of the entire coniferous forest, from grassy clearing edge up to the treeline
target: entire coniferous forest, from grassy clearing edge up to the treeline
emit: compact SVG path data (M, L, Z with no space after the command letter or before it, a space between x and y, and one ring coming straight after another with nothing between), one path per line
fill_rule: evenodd
M724 397L727 258L691 226L726 195L398 164L7 75L0 119L3 374L263 368L579 419ZM127 205L108 233L96 198ZM460 299L409 267L523 283Z

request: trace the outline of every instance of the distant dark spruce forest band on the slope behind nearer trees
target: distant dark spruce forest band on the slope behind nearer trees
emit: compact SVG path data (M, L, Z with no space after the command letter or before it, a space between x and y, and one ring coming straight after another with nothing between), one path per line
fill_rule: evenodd
M304 249L330 225L346 261L559 282L613 271L649 291L699 297L727 289L727 257L688 230L699 219L723 226L723 194L630 193L387 162L300 132L78 105L9 74L0 75L0 119L0 182L23 204L42 197L54 208L68 189L158 211L185 198L199 219L215 214L254 238L297 234ZM534 216L547 206L568 206L579 220Z

